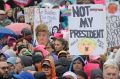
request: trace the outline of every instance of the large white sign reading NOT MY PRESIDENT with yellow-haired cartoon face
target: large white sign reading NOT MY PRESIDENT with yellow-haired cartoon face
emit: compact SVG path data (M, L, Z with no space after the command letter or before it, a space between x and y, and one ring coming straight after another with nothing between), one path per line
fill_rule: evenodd
M100 55L106 52L106 9L104 5L71 5L69 52Z

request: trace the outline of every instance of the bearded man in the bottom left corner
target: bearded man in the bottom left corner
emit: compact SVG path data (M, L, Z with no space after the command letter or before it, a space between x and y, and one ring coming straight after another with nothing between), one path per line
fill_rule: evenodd
M6 61L0 61L0 79L9 79L9 66Z

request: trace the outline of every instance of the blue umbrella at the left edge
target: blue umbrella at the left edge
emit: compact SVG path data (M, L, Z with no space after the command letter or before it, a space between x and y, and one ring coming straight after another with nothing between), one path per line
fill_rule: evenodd
M12 30L5 27L0 27L0 38L3 38L6 35L10 35L15 38L17 37L17 35Z

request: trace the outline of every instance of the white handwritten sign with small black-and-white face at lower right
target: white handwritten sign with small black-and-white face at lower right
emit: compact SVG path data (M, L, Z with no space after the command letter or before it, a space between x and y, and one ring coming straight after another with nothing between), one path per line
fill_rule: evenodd
M35 8L34 12L35 26L39 25L40 22L43 22L48 26L48 29L52 34L59 30L59 9Z

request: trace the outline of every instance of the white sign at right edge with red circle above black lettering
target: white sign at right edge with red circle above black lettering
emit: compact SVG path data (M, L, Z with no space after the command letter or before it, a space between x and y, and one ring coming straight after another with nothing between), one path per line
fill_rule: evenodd
M110 2L107 5L107 44L108 47L120 45L120 10L119 2Z

